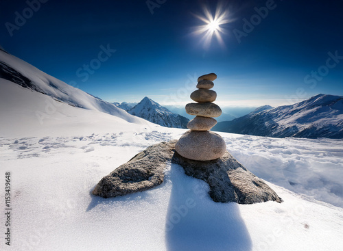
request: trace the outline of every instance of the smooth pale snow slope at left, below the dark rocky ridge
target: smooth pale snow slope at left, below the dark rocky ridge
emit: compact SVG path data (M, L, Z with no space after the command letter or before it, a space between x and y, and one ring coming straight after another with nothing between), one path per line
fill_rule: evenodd
M0 79L0 137L84 135L96 129L102 133L132 128L158 127L130 114L124 118L101 111L82 109L56 101L51 96L33 92Z

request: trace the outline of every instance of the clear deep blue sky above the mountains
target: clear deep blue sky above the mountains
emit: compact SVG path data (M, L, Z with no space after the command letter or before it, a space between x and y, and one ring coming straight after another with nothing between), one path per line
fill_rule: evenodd
M204 6L214 14L217 1L43 2L29 7L26 1L1 1L0 44L106 101L149 96L162 104L185 104L196 90L194 76L209 72L217 73L213 90L222 105L282 105L319 93L343 95L342 0L222 1L230 19L220 25L224 47L213 38L207 48L203 36L191 34L204 25L194 14L204 16ZM98 58L102 45L116 51Z

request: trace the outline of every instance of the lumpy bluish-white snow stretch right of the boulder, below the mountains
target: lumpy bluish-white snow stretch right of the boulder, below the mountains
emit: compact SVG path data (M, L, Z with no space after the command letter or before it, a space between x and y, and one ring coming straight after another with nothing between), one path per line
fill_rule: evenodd
M220 134L228 151L259 178L343 207L343 140Z

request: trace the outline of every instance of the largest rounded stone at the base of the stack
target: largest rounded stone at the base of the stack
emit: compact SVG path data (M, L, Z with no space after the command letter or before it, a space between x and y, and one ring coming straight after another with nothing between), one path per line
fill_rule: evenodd
M187 131L176 143L175 150L187 159L208 161L222 157L226 145L223 138L212 131Z

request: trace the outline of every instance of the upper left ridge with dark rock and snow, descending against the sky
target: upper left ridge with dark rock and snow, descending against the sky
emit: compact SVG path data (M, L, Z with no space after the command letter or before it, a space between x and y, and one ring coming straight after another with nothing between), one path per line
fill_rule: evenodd
M136 117L130 116L115 105L51 77L31 64L4 51L0 51L0 78L17 83L24 88L47 94L58 101L75 107L103 111L129 122L139 122Z

